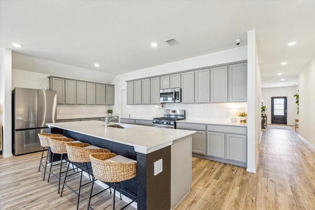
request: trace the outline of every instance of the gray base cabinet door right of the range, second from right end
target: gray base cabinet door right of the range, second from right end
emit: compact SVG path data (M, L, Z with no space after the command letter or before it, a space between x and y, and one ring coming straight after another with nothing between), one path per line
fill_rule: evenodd
M224 158L225 141L224 133L208 132L207 154Z

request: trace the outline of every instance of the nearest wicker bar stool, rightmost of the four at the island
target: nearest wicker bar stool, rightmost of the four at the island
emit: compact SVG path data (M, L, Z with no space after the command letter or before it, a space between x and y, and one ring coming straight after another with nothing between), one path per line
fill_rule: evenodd
M115 186L119 184L119 191L120 191L120 199L122 199L122 191L131 195L130 193L126 192L125 190L121 189L120 182L124 180L130 180L137 176L137 161L126 158L121 155L114 155L114 153L93 153L90 154L92 170L93 170L93 182L92 182L92 189L89 199L89 206L88 209L93 210L90 206L91 198L95 195L99 194L100 192L96 193L92 196L92 190L95 178L97 180L111 182L114 183L114 197L113 197L113 210L115 210ZM112 157L110 157L112 156ZM110 186L111 187L111 186ZM103 190L104 191L104 190ZM103 192L101 191L101 192ZM132 202L136 201L137 198L134 195L131 195L135 199L133 199L130 203L124 206L122 209L125 209L128 205Z

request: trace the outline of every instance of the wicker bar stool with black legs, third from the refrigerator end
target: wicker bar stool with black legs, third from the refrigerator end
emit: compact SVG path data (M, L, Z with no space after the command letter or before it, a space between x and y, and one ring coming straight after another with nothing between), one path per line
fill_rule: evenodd
M88 143L73 143L73 142L66 143L65 144L65 148L67 150L67 156L68 156L68 160L70 162L72 162L72 163L81 163L81 167L80 167L81 168L81 177L80 177L80 184L79 184L79 192L74 191L71 187L69 187L65 183L65 180L66 180L67 177L78 173L78 172L76 172L76 173L68 175L70 162L68 164L68 168L67 168L67 171L65 173L65 178L64 178L64 181L63 181L63 187L66 186L76 196L78 196L78 203L77 203L77 210L78 210L79 209L81 187L92 182L92 181L90 181L90 182L87 182L85 184L82 184L83 171L88 171L89 176L90 176L89 169L92 169L92 168L89 168L88 164L87 164L88 162L91 162L90 154L95 153L95 152L107 152L108 153L108 152L110 152L110 150L104 149L104 148L99 148L99 147L90 145ZM84 164L86 165L86 168L84 168ZM91 178L90 178L90 180L91 180ZM61 195L60 196L62 196L62 195L63 195L63 189L61 190Z

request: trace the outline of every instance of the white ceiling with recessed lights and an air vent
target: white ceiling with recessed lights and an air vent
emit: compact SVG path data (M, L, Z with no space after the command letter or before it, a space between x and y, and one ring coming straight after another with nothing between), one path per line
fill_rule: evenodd
M256 30L262 87L292 86L315 58L314 11L315 0L0 0L0 46L118 75L244 46Z

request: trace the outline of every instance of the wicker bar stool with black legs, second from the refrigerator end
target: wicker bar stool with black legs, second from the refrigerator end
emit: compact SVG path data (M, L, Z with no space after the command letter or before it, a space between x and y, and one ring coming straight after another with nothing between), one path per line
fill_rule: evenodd
M50 164L48 182L49 182L50 175L53 175L57 180L59 180L58 193L60 192L61 174L64 173L64 172L62 172L63 158L67 161L67 157L65 156L65 154L67 153L67 150L65 148L65 143L67 143L67 142L74 142L74 140L71 138L67 138L67 137L50 137L49 138L50 149L53 152L53 155L52 155L51 164ZM61 154L61 158L60 158L61 162L58 164L55 164L55 165L60 164L59 177L57 177L54 173L51 172L51 168L52 168L53 163L54 163L54 154Z

